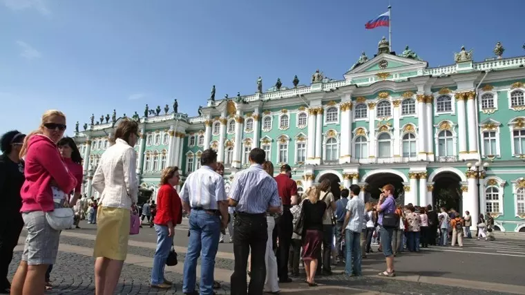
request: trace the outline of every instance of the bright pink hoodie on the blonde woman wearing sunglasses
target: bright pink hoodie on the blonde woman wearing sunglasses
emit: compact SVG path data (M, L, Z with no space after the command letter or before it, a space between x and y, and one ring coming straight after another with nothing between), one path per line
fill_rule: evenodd
M30 137L24 174L26 181L20 191L20 212L53 211L55 204L50 186L52 180L65 193L70 193L77 185L77 180L66 168L57 145L44 135Z

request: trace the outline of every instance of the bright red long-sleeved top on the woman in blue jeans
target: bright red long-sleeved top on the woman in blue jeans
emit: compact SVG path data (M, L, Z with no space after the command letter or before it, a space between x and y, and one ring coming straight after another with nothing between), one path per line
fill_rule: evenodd
M155 214L155 225L168 225L173 222L173 226L180 225L182 222L182 203L180 197L171 187L171 184L163 184L157 195L157 214Z

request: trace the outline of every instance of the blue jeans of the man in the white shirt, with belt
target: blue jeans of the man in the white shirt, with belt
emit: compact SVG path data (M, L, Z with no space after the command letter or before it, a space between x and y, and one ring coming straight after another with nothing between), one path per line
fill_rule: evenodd
M213 294L213 270L219 247L220 219L206 211L191 210L189 215L189 243L184 258L184 280L182 292L195 291L197 260L202 251L200 264L200 294Z

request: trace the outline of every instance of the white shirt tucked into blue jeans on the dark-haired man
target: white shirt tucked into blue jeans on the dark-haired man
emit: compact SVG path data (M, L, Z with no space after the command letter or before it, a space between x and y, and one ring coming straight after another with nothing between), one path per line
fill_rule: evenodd
M217 210L217 202L227 200L225 180L209 166L191 173L180 191L180 199L191 208Z

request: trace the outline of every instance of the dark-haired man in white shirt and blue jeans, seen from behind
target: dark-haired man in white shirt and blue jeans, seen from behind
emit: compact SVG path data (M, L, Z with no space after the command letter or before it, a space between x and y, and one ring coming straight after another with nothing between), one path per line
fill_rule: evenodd
M204 151L200 163L200 169L188 176L180 193L182 207L189 212L190 231L188 252L184 259L182 292L192 295L198 295L195 281L201 252L200 294L213 294L213 269L220 231L226 228L228 222L225 182L215 172L216 151Z

